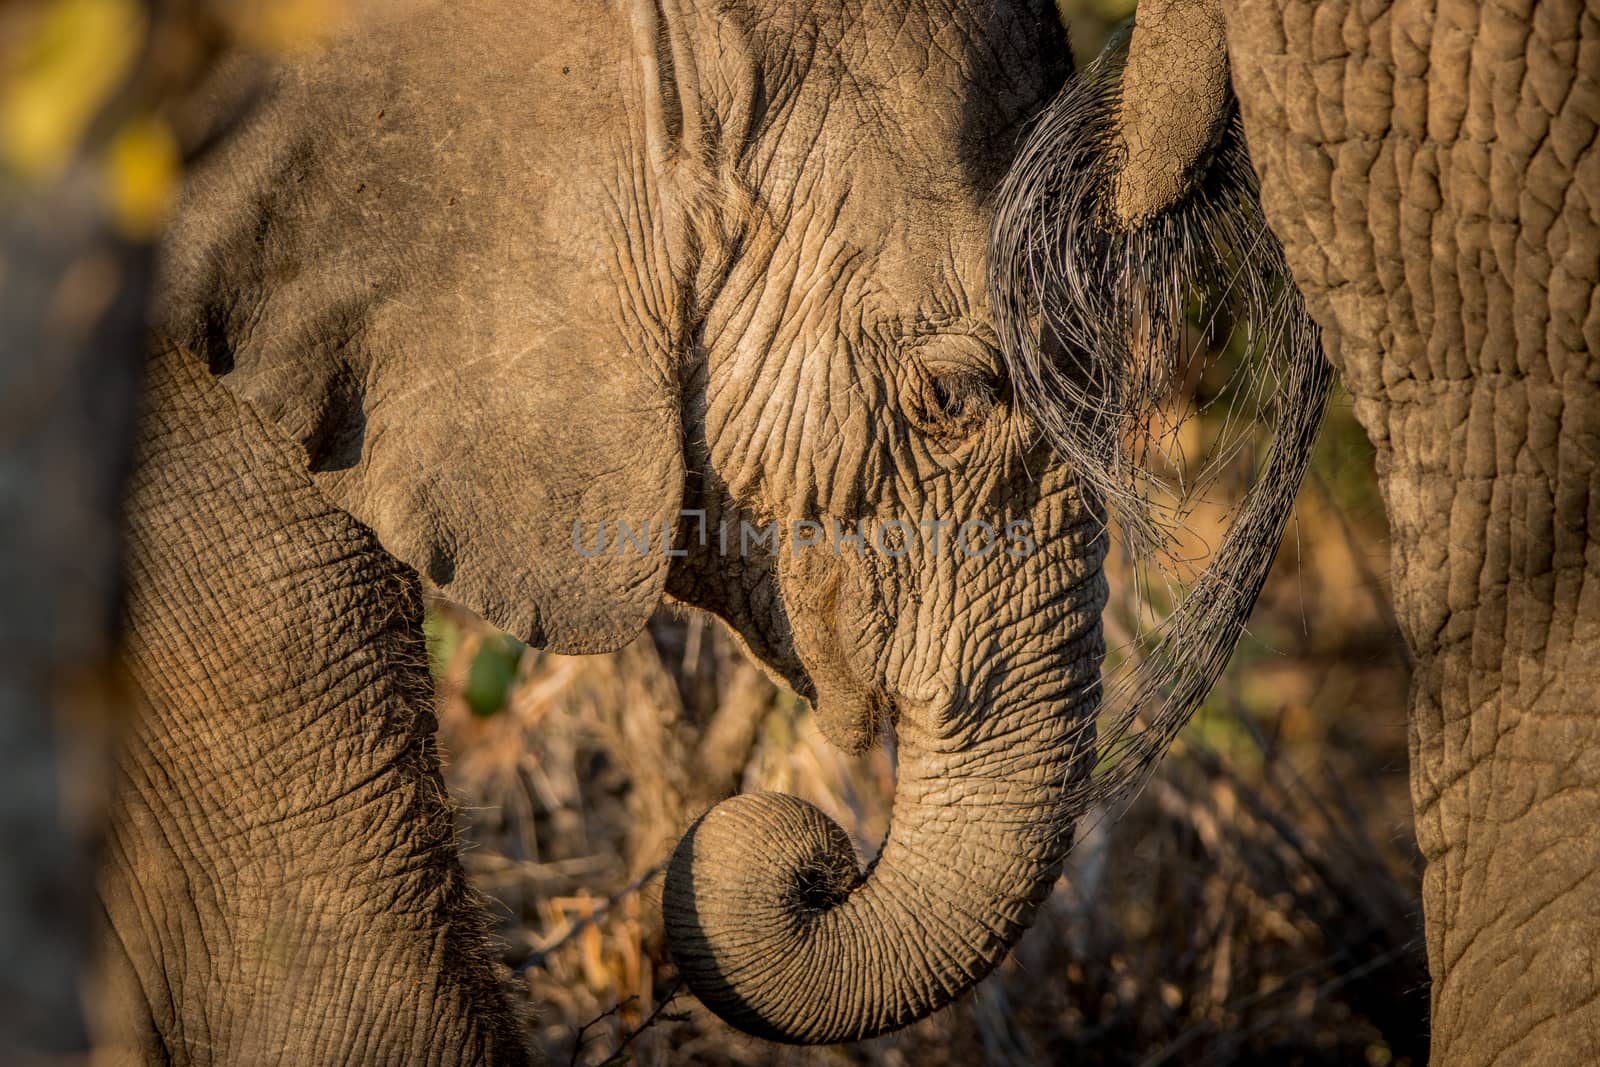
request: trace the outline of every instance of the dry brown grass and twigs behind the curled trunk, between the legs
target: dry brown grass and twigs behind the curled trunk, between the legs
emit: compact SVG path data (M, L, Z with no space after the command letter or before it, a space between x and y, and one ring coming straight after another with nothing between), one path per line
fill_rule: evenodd
M659 893L677 835L736 790L802 795L870 856L893 793L882 750L840 755L720 627L666 613L611 656L509 657L504 707L477 715L469 672L499 638L440 608L466 862L504 905L549 1062L1424 1062L1405 667L1362 445L1336 413L1251 638L1150 787L1082 835L994 977L875 1041L778 1048L686 993L664 1006ZM1128 625L1110 614L1112 635Z

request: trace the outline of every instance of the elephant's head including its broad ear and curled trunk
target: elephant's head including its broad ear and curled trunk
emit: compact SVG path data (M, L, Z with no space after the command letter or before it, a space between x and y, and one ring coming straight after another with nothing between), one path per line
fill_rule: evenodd
M1034 262L992 270L1000 178L1070 74L1045 0L528 18L405 5L270 75L190 182L163 330L493 622L603 651L669 597L725 619L840 745L893 729L867 873L813 808L739 797L686 833L664 910L691 989L747 1030L904 1025L995 966L1106 792L1109 443L1136 408L1117 382L1130 309L1165 330L1178 290L1150 304L1101 242L1104 309L990 299L992 272ZM1138 781L1226 661L1293 456L1174 629L1200 665L1152 649L1107 782Z

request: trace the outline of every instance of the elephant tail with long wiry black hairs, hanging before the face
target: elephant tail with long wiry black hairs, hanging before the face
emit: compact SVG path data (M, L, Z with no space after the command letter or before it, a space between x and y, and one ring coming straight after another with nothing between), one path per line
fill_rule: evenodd
M1136 627L1120 664L1110 661L1098 769L1078 811L1131 797L1227 665L1333 384L1322 336L1261 213L1221 24L1205 22L1203 0L1158 10L1186 26L1198 11L1221 91L1216 69L1202 64L1190 70L1200 86L1187 110L1149 93L1142 109L1126 104L1158 74L1141 56L1141 24L1131 54L1126 38L1109 45L1035 120L998 190L990 234L989 294L1018 402L1118 526L1144 600L1160 608L1154 593L1171 593L1165 619ZM1171 50L1171 37L1152 32L1146 42ZM1195 34L1187 38L1194 51ZM1200 131L1166 138L1163 123ZM1197 309L1211 315L1203 333L1226 338L1216 320L1232 320L1235 370L1213 400L1174 410L1171 386L1208 370ZM1219 440L1198 477L1186 475L1178 429L1211 405L1222 413ZM1176 537L1243 448L1258 458L1253 483L1210 563L1186 576Z

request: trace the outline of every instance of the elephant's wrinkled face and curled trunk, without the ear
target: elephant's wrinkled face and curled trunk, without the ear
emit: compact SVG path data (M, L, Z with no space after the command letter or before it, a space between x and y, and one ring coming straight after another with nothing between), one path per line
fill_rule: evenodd
M790 1041L896 1029L994 966L1070 841L1098 705L1101 515L1013 395L984 266L1005 146L1064 42L1043 5L890 6L749 24L758 69L803 77L766 82L784 110L725 176L738 256L685 406L690 502L717 533L667 581L832 741L898 742L870 875L776 795L707 813L669 867L690 987Z

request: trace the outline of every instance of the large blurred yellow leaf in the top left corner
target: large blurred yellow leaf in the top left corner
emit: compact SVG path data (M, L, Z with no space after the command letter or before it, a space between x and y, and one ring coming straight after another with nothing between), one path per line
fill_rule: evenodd
M134 0L50 0L0 74L0 158L22 178L59 174L144 40Z

